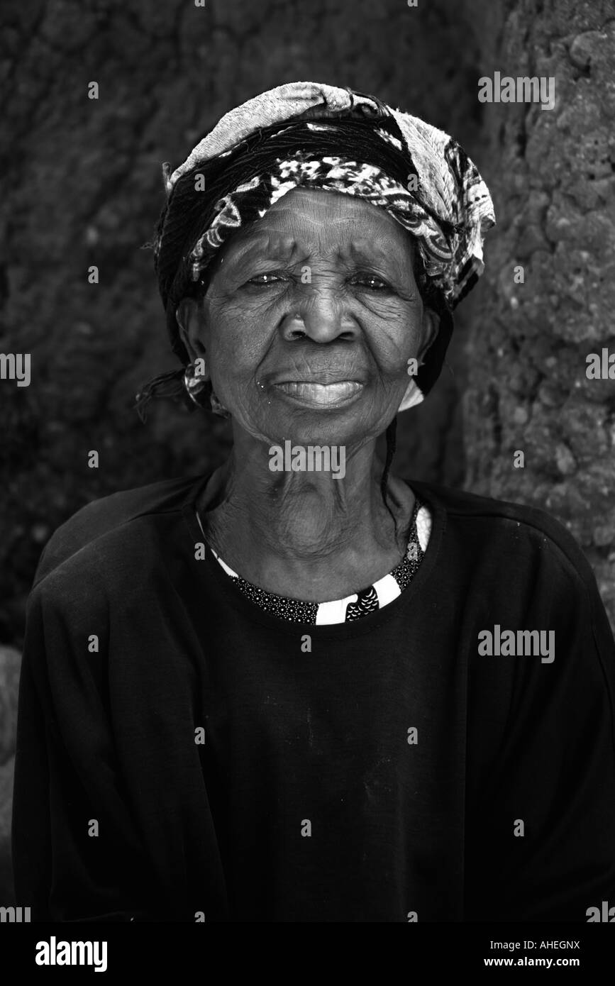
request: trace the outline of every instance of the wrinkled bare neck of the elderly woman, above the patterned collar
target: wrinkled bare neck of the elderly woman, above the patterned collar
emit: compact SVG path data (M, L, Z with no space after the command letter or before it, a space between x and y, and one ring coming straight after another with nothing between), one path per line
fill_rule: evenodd
M386 510L375 445L331 472L272 472L262 447L237 450L214 472L198 505L208 543L242 578L298 599L340 599L399 563L414 497L390 477ZM239 467L240 461L240 467ZM264 465L264 467L263 467Z

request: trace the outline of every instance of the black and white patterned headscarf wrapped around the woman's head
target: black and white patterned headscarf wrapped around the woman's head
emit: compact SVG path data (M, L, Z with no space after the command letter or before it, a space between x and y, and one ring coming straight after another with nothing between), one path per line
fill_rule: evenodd
M419 287L440 300L441 326L399 410L433 387L450 312L482 274L483 236L495 224L487 186L452 137L375 97L294 82L226 113L182 165L172 173L165 165L163 173L168 199L153 246L171 347L183 364L189 357L175 318L181 298L206 289L209 265L230 236L304 186L364 198L414 238L424 271ZM156 378L138 403L182 373Z

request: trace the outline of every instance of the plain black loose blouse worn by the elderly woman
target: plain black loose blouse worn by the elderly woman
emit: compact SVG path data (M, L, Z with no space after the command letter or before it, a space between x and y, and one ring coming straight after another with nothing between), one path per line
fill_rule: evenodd
M615 643L568 531L410 480L433 519L411 583L302 625L195 547L207 478L96 501L43 552L18 904L60 921L583 922L615 903Z

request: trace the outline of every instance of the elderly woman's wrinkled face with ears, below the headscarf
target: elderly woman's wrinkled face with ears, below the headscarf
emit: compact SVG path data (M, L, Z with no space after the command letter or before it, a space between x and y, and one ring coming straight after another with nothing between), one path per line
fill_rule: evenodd
M257 439L360 447L395 414L437 319L409 236L350 195L296 188L219 253L178 310L234 423Z

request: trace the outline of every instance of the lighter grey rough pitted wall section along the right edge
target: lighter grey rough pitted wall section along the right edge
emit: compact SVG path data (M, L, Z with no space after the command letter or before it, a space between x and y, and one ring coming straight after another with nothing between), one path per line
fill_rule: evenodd
M471 303L466 487L566 524L615 626L615 381L585 375L615 353L615 4L481 6L481 75L552 76L556 102L481 106L498 235Z

